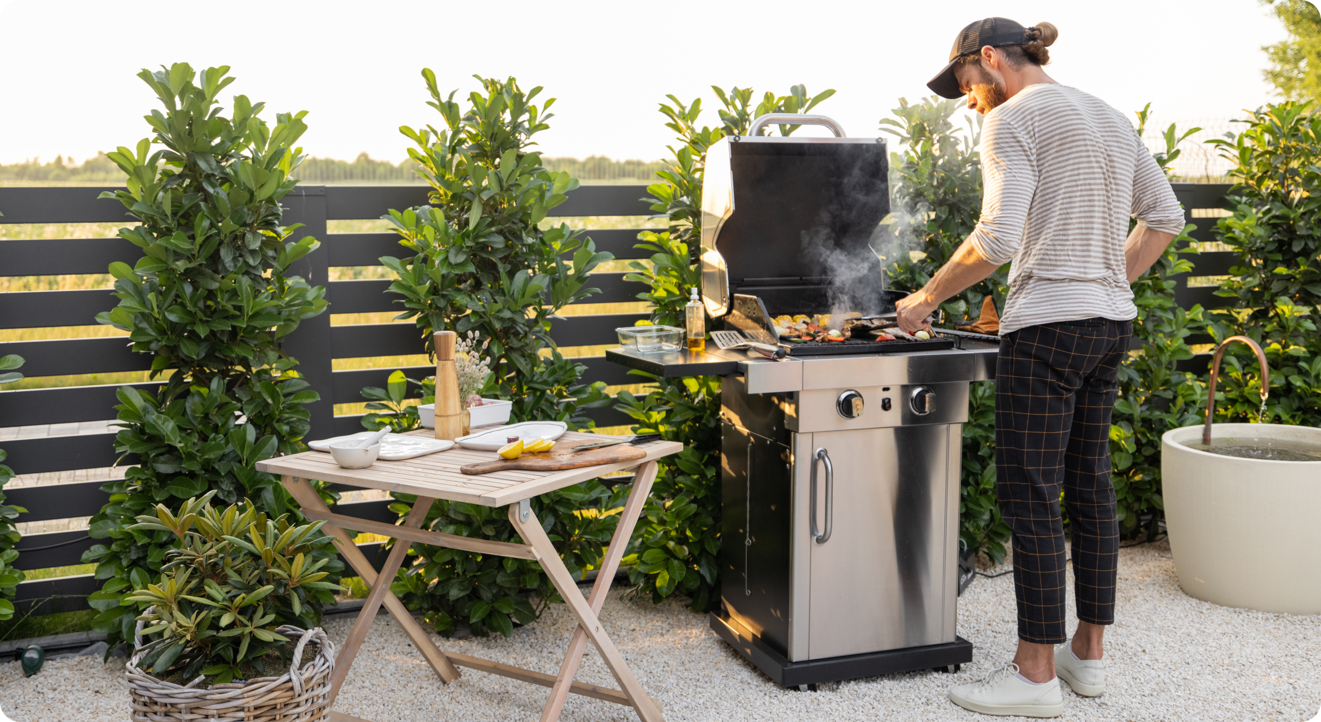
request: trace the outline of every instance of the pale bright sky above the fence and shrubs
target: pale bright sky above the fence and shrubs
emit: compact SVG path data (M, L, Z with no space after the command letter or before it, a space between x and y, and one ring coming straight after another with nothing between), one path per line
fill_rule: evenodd
M1272 100L1262 46L1285 38L1258 0L16 0L0 12L0 162L132 147L159 107L136 73L181 61L230 66L226 107L244 94L271 123L309 111L301 144L318 157L404 160L400 125L443 124L423 67L457 98L480 87L473 74L544 86L557 99L536 136L547 156L666 157L674 133L658 104L700 96L699 123L716 125L711 84L835 88L814 112L876 137L898 98L930 95L958 32L987 15L1055 24L1055 81L1125 112L1151 102L1161 127Z

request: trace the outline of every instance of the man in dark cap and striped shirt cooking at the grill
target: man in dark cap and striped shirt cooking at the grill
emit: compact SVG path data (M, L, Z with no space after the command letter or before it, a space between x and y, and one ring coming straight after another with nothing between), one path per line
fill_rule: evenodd
M1137 315L1129 281L1184 226L1169 182L1128 119L1041 69L1054 25L988 17L959 33L927 86L985 115L978 227L898 325L1011 263L996 362L996 494L1013 532L1018 649L1013 663L950 690L987 713L1057 717L1059 680L1104 692L1102 638L1114 623L1119 528L1110 482L1116 372ZM1137 218L1132 234L1128 219ZM1125 240L1127 235L1127 240ZM1073 532L1078 628L1065 630L1065 537Z

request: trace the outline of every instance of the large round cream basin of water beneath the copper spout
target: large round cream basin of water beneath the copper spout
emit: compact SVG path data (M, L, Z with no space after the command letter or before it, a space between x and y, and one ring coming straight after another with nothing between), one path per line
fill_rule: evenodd
M1321 429L1215 424L1213 438L1321 443ZM1161 437L1169 548L1189 595L1226 607L1321 614L1310 561L1321 509L1321 462L1262 461L1189 449L1202 426Z

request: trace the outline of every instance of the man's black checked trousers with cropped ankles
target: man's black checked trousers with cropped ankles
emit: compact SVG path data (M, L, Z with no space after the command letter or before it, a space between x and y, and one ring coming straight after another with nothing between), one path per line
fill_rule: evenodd
M1000 339L996 362L996 495L1013 532L1018 639L1061 644L1065 533L1073 532L1078 619L1115 620L1119 523L1110 480L1110 416L1132 323L1087 318Z

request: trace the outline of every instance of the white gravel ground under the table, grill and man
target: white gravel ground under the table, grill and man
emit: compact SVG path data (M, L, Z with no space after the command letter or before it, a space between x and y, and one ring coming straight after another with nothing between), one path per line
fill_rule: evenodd
M1306 569L1300 566L1300 572ZM680 605L649 601L605 605L602 619L666 719L985 719L954 706L951 684L971 681L1012 659L1012 575L978 578L959 599L959 634L976 649L958 674L914 672L782 690L736 656ZM456 649L555 673L573 630L563 605L513 639L440 640ZM337 641L351 619L329 622ZM1218 607L1178 589L1165 544L1120 552L1119 620L1107 634L1108 692L1085 698L1065 689L1065 719L1312 719L1321 707L1321 616L1291 616ZM18 664L0 665L0 707L17 722L125 718L122 663L48 661L22 678ZM616 686L594 649L579 680ZM371 719L535 719L547 689L464 671L443 686L387 615L375 620L336 709ZM627 707L569 696L561 719L634 721Z

